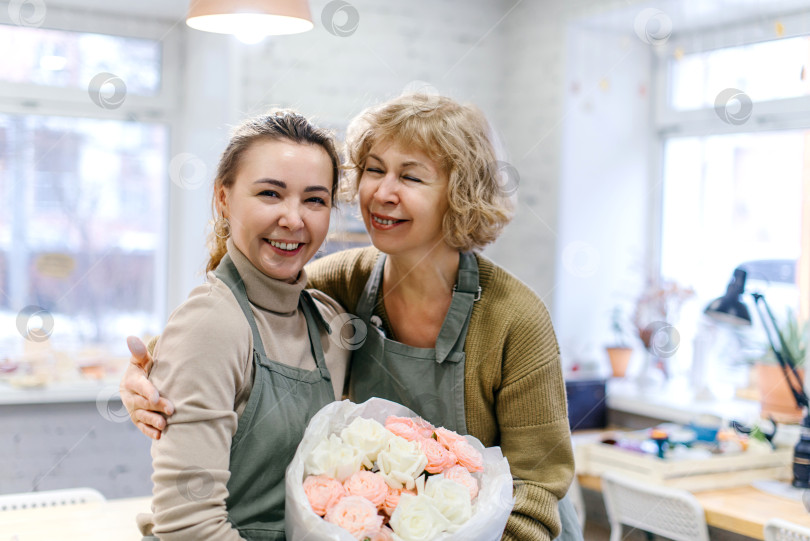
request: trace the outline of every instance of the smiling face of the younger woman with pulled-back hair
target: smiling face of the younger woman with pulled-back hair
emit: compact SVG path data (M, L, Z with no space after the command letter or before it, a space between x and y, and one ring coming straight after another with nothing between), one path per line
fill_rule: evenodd
M260 140L217 194L234 244L267 276L295 281L329 230L332 162L317 145Z

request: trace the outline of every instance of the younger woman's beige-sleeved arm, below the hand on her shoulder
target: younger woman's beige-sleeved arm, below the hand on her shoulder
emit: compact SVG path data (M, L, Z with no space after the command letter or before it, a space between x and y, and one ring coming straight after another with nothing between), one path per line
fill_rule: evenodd
M217 289L192 292L155 349L150 380L177 406L152 443L151 531L164 541L242 539L228 521L225 499L235 397L249 381L251 338L235 299Z

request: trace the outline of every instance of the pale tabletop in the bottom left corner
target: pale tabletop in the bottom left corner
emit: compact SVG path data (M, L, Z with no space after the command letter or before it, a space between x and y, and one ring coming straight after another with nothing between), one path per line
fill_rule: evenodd
M0 512L0 541L141 541L151 496Z

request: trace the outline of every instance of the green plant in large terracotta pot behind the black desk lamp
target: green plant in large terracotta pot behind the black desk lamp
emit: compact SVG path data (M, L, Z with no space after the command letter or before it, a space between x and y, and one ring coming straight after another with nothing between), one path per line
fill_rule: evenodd
M785 339L785 345L796 363L799 379L804 385L804 363L807 357L810 321L802 324L796 314L792 310L788 310L779 332ZM779 346L777 344L777 347ZM763 355L755 359L754 370L762 417L772 416L776 421L787 423L799 422L802 418L802 410L796 404L793 393L790 392L785 380L785 373L777 362L770 345L767 346Z

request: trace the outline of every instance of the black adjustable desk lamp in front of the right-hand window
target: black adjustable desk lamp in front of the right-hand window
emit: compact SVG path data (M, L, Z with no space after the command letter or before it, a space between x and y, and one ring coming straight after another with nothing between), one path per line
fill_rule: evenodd
M793 262L783 262L785 264L793 264ZM719 297L706 307L704 313L718 321L729 323L732 325L751 325L751 315L748 313L748 308L743 304L741 296L745 291L745 278L747 272L745 268L757 267L763 268L762 265L775 265L772 269L778 268L779 262L752 262L743 264L734 269L734 276L728 284L726 294ZM773 276L772 273L766 275ZM788 275L782 270L781 275L777 275L774 281L791 282L791 279L785 279ZM780 279L781 278L781 279ZM785 338L779 332L779 327L776 325L776 319L773 317L770 306L761 293L751 293L754 298L754 305L759 313L762 326L765 328L765 334L768 336L768 343L773 350L779 366L782 367L782 373L785 375L788 387L790 388L796 404L802 408L804 418L801 423L801 437L796 447L793 450L793 486L798 488L810 488L810 400L804 392L804 384L796 371L796 361L793 359L793 354L785 343ZM764 307L765 313L762 308ZM765 315L767 314L767 319ZM768 325L770 323L770 326ZM779 347L776 347L776 342L771 334L771 327L773 332L776 333L779 341Z

